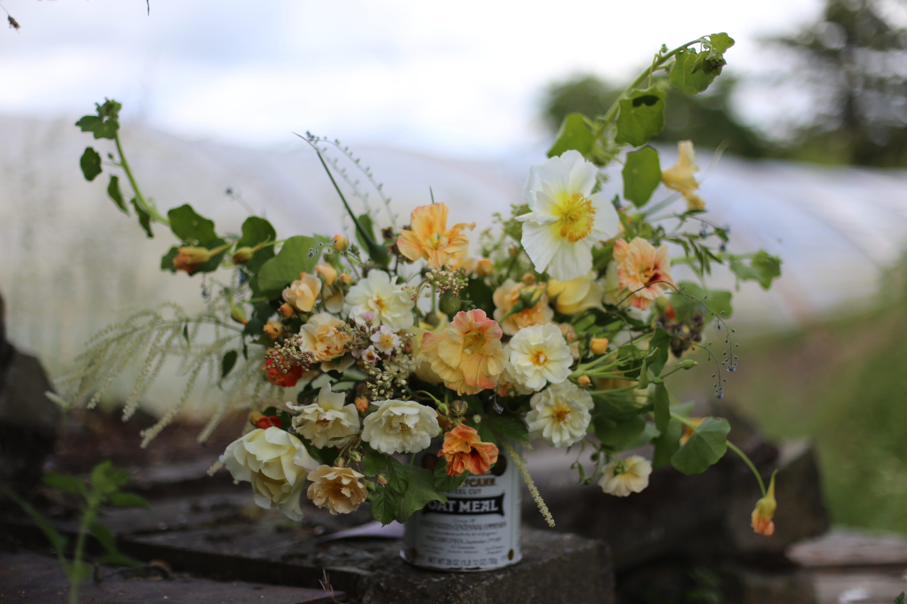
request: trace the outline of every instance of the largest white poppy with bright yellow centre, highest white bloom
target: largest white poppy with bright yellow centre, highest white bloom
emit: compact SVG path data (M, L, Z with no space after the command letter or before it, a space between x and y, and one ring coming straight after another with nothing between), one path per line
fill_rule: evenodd
M617 235L617 210L604 193L592 193L597 171L576 150L529 169L522 195L530 213L517 220L536 271L560 281L581 277L592 268L592 245Z

